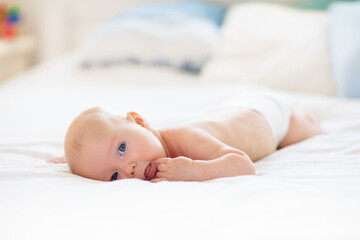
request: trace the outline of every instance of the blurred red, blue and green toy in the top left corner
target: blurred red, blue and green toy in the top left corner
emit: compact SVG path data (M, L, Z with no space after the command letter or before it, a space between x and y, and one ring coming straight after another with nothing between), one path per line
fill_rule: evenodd
M20 10L17 6L0 5L0 38L13 38L19 33Z

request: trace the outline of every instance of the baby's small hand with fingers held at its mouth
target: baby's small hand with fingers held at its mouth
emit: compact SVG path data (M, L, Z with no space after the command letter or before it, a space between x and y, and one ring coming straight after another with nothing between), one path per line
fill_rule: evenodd
M187 157L159 158L155 160L158 165L157 178L151 182L160 181L189 181L193 176L193 160Z

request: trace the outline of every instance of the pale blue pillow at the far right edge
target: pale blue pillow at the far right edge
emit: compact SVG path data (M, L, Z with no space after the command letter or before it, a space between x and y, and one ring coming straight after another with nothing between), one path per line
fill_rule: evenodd
M342 97L360 97L360 2L329 8L330 48L335 81Z

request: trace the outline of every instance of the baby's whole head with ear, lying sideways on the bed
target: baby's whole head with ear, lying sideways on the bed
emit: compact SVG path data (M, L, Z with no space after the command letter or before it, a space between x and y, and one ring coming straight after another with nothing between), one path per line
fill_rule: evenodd
M155 177L154 160L166 157L159 133L135 112L127 117L91 108L71 123L65 159L74 174L101 181Z

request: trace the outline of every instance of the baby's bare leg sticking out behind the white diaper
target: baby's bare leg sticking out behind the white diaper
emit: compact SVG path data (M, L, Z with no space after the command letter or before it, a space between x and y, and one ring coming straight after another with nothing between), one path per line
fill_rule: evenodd
M291 112L290 125L278 148L303 141L322 133L319 121L304 110L294 108Z

